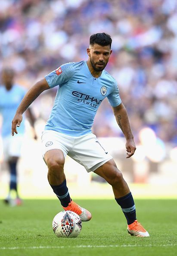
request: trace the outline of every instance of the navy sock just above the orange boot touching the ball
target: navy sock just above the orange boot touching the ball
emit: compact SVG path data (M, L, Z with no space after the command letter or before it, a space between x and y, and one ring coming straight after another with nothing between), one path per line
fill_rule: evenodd
M63 207L67 207L69 203L71 203L71 198L69 195L68 187L66 186L66 180L62 182L62 184L53 186L50 185L53 188L53 192L56 194L58 199L61 202L61 205Z

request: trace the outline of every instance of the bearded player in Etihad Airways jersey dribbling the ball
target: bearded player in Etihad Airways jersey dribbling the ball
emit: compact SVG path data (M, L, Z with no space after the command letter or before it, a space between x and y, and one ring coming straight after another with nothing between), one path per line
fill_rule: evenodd
M95 172L112 186L115 200L127 219L128 233L148 237L149 233L137 221L134 199L127 183L112 156L91 131L96 111L107 97L127 140L127 158L136 150L117 83L104 70L112 53L111 44L112 39L108 34L91 35L87 61L66 63L34 84L16 111L12 121L12 136L14 132L17 134L16 127L22 122L23 112L39 94L59 86L52 112L42 133L42 145L43 159L48 166L48 181L63 209L76 212L82 221L91 219L91 213L76 204L69 195L63 171L65 156L68 154L83 165L87 172Z

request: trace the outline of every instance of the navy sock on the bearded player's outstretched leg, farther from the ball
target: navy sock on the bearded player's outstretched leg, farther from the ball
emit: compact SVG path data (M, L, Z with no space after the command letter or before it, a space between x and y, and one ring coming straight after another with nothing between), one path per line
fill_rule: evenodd
M125 218L127 219L127 224L130 225L133 223L137 218L134 199L131 192L124 197L115 198L115 200L121 206Z

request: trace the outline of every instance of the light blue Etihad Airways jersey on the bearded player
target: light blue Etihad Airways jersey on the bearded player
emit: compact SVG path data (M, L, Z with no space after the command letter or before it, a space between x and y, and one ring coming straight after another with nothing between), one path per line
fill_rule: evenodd
M94 78L86 61L66 63L45 78L51 88L59 85L45 130L75 137L91 133L102 101L107 97L111 106L121 103L115 79L105 70Z

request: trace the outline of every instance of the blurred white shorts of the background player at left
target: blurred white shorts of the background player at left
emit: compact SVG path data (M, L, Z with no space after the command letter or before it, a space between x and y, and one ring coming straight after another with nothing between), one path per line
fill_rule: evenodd
M3 159L8 161L10 157L20 157L23 135L3 137Z

